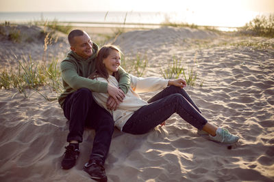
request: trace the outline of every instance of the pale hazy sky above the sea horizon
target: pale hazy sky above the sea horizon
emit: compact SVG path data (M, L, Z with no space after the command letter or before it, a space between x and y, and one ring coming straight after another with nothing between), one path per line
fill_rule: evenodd
M234 12L274 13L274 0L0 0L0 12Z

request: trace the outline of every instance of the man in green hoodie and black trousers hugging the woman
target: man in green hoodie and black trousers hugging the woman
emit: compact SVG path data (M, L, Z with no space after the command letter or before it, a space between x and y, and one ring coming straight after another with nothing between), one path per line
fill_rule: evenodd
M95 129L95 138L90 159L84 170L92 179L107 181L103 164L110 149L114 121L110 113L93 100L92 92L108 93L108 107L116 109L116 106L123 102L130 87L130 78L119 67L119 89L105 82L88 79L95 71L95 58L99 47L90 40L85 31L79 29L71 31L68 39L71 51L60 65L65 90L58 99L64 116L69 120L69 145L65 147L62 168L70 169L75 166L84 127L91 127Z

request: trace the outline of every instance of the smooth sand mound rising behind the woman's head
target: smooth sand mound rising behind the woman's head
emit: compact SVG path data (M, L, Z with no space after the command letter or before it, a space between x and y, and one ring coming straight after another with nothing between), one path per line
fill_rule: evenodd
M129 31L121 34L113 44L121 46L125 53L153 52L159 48L184 46L189 39L209 39L218 35L212 31L190 28L162 27L160 29Z

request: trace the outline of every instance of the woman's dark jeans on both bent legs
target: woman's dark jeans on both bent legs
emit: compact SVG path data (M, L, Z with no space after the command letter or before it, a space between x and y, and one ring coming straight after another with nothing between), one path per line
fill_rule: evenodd
M180 87L167 87L151 97L148 102L147 106L142 106L136 110L132 117L127 120L123 126L123 132L145 134L153 127L166 121L175 112L198 130L202 130L203 125L208 122L201 115L201 111L188 93Z

